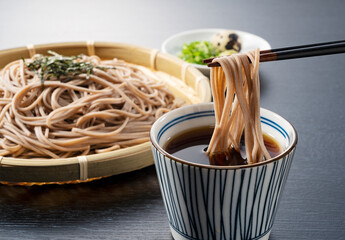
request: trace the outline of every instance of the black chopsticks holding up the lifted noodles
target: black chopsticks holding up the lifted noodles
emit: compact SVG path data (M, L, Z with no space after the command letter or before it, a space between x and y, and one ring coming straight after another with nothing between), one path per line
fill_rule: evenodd
M260 51L260 62L345 53L345 40ZM214 58L204 59L209 67L220 66Z

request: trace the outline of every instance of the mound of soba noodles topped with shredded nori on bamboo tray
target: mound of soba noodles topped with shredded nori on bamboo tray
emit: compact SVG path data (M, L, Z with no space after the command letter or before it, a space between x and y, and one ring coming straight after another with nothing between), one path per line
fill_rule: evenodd
M0 156L64 158L140 144L177 106L164 83L135 65L50 53L0 73Z

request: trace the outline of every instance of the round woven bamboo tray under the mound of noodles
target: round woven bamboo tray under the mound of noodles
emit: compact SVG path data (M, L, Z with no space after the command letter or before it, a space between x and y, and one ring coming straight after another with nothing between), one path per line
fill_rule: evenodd
M208 79L197 69L180 59L149 49L122 43L68 42L29 45L0 51L0 69L21 58L49 50L65 56L98 55L102 59L118 58L143 66L161 76L175 97L186 104L208 102L211 92ZM141 169L153 164L150 143L98 153L84 157L60 159L20 159L0 157L0 182L32 185L48 183L78 183Z

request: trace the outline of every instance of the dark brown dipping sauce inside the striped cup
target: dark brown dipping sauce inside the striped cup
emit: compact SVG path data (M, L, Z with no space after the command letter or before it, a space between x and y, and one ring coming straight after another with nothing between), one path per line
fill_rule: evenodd
M163 147L171 155L192 163L217 166L247 165L244 138L241 139L241 152L231 149L227 153L216 154L209 157L206 153L212 137L213 126L192 128L171 137ZM282 152L276 140L263 134L264 144L273 158Z

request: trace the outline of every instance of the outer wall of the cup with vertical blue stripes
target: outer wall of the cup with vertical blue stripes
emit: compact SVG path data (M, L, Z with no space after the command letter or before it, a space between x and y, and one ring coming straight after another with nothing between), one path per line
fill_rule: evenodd
M266 165L208 169L171 160L152 147L171 228L195 240L264 236L272 228L294 150Z

